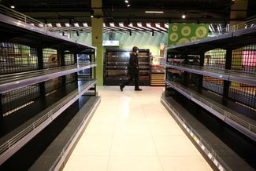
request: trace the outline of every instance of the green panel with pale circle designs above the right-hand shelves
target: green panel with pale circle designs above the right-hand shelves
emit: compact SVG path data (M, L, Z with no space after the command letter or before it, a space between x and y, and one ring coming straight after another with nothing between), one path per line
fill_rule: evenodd
M208 24L169 24L168 45L182 45L208 36Z

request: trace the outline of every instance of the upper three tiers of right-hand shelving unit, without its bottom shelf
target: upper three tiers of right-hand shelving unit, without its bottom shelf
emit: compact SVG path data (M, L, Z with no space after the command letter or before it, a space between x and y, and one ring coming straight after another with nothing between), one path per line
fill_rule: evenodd
M256 140L251 129L256 126L255 38L256 27L250 27L167 49L166 95L168 89L175 89ZM233 107L244 107L251 117L245 116L247 111L234 117L237 111L217 101L210 103L206 92L212 94L210 100L216 96Z

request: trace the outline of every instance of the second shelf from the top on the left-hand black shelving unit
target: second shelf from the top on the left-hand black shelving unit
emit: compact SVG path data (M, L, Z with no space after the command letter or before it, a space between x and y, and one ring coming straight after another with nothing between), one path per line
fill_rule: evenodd
M6 91L17 89L23 86L33 85L38 82L45 82L52 78L69 75L95 66L95 63L88 63L65 67L53 67L37 71L20 72L10 75L0 75L0 93L4 93Z

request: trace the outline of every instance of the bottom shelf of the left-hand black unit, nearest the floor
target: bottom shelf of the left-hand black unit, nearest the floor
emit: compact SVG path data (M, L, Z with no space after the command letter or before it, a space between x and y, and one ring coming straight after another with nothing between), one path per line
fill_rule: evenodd
M80 96L0 170L61 170L100 103L100 96ZM35 150L36 149L36 150ZM26 161L20 159L26 156Z

